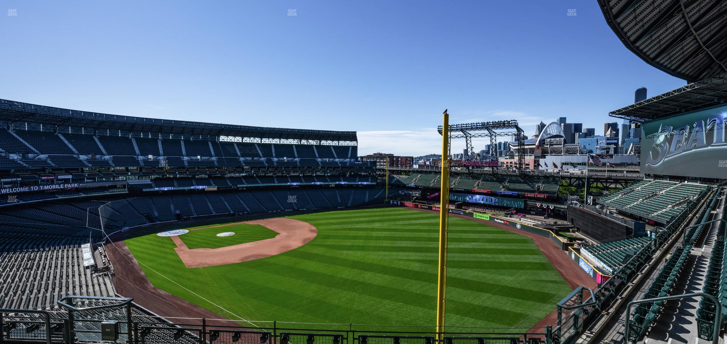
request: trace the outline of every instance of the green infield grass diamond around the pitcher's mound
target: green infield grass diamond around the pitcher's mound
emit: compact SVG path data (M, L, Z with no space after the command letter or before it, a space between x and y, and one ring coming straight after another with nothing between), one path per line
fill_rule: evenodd
M205 226L192 227L204 228ZM190 228L188 228L190 229ZM217 236L217 233L233 232L233 236ZM236 244L244 244L246 242L258 241L263 239L275 238L278 232L270 230L262 225L248 225L246 223L236 223L234 225L223 225L222 227L196 229L180 236L188 249L208 248L216 249L218 247L232 246Z

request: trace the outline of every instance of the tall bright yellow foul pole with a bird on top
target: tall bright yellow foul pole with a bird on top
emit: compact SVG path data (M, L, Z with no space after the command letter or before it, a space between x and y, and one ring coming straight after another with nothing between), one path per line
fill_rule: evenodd
M444 340L444 305L446 303L447 287L447 216L449 215L449 114L443 113L442 126L442 164L441 164L441 190L439 210L439 265L437 273L437 335Z

